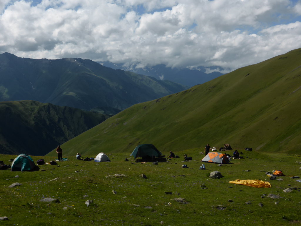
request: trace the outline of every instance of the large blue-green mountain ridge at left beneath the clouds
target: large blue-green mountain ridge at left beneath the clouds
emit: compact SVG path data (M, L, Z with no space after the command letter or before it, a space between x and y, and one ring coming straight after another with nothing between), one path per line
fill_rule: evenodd
M187 88L81 58L48 60L0 54L0 101L36 100L114 115Z

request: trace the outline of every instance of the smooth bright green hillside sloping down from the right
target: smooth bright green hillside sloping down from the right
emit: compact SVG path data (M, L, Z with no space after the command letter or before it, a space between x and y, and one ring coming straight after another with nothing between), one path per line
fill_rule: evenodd
M64 143L73 155L131 152L153 143L161 152L251 147L301 150L301 49L225 74L149 102L133 105ZM48 155L55 155L54 151Z

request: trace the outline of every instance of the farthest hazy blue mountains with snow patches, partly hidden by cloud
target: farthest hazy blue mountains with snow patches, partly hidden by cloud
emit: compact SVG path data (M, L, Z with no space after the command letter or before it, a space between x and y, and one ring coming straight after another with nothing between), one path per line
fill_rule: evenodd
M113 69L121 69L123 71L132 71L137 74L143 74L146 76L154 77L158 80L170 80L175 83L182 84L184 86L195 86L197 84L203 84L212 79L215 79L221 75L218 70L224 70L221 67L197 67L194 69L189 68L171 68L166 67L164 64L158 64L153 67L137 67L137 65L133 64L130 67L126 67L124 64L114 64L110 61L101 61L99 62L101 65L106 67L111 67ZM213 71L211 73L206 74L205 72ZM216 71L215 71L216 70Z

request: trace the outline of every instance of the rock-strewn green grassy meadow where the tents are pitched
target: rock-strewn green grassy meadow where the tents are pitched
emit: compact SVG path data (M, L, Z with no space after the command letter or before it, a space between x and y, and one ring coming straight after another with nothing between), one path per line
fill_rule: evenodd
M227 165L200 162L201 154L192 155L193 161L182 162L183 154L191 156L189 153L200 151L203 150L176 152L180 159L158 165L135 163L129 153L107 153L111 162L80 161L69 156L69 161L41 165L39 171L2 170L0 217L7 216L9 220L1 221L1 225L301 224L301 183L290 178L300 176L301 164L296 163L301 162L300 155L239 150L244 158L233 159ZM11 164L8 160L15 157L0 155L0 160ZM45 162L55 159L53 156L31 157L35 162L41 158ZM188 168L182 168L183 164ZM202 164L206 170L199 169ZM272 170L282 170L286 176L279 178L283 181L269 180L265 172ZM208 177L212 171L220 171L224 177ZM106 177L114 174L125 177ZM53 180L55 178L58 179ZM268 180L272 187L228 183L236 179ZM16 182L22 185L8 187ZM296 190L284 193L289 187ZM266 197L270 193L281 198ZM263 194L267 195L262 198ZM60 202L40 202L46 197ZM176 202L174 198L184 198L188 203ZM90 206L85 205L88 199L93 200Z

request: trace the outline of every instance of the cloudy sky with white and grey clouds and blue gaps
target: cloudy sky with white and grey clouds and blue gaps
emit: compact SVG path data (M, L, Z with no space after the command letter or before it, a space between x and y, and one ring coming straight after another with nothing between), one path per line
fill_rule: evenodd
M300 0L0 0L19 57L234 70L300 47Z

